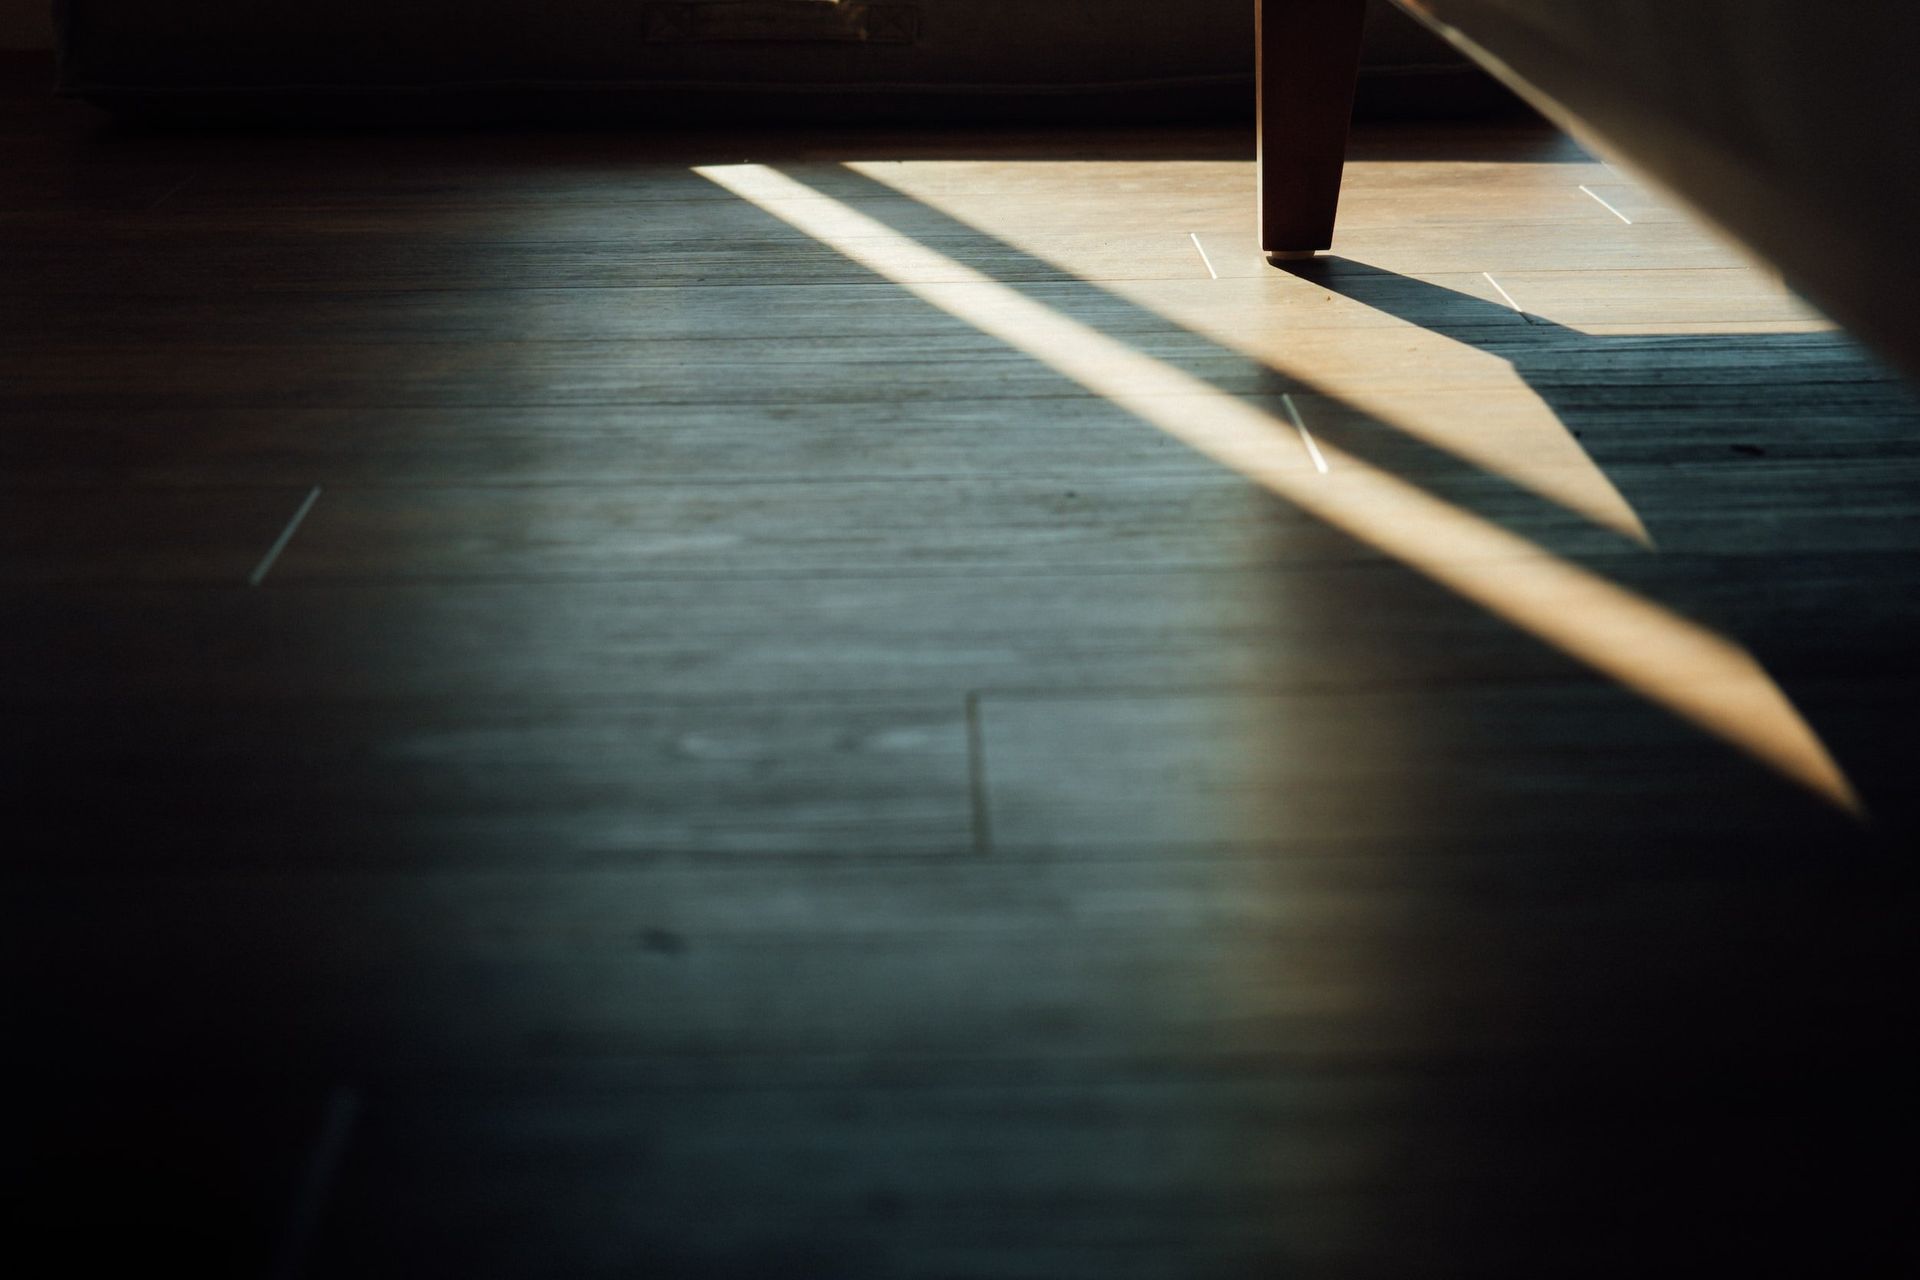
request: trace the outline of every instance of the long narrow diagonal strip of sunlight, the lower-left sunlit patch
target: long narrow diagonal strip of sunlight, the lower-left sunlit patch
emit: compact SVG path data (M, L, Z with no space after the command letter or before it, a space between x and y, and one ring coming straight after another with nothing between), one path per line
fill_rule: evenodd
M922 301L1004 342L1344 533L1843 810L1860 800L1786 693L1743 647L1588 568L1321 445L1286 420L1008 288L766 165L695 173Z

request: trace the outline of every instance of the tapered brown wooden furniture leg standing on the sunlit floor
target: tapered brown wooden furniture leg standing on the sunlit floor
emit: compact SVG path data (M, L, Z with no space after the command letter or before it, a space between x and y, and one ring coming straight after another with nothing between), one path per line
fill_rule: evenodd
M1256 0L1260 248L1267 261L1332 246L1367 0Z

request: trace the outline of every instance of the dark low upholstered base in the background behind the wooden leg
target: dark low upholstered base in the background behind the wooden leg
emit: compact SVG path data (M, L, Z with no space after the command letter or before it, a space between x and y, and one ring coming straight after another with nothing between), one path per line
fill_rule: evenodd
M1246 117L1252 0L63 0L61 88L173 119ZM1513 98L1394 12L1369 115Z

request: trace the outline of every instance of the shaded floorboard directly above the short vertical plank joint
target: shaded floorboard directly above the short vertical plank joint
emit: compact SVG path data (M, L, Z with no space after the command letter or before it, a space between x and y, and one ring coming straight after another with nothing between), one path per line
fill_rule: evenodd
M1780 679L1895 674L1920 557L1586 558ZM1766 578L1755 591L1753 576ZM849 697L1561 677L1565 654L1382 562L1023 576L17 591L0 700ZM1845 626L1837 626L1843 620Z

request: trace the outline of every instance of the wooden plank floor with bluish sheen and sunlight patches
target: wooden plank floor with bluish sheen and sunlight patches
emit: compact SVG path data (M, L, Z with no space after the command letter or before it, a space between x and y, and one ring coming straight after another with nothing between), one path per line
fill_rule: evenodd
M31 88L13 1249L1912 1274L1920 405L1630 178Z

